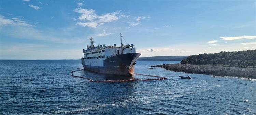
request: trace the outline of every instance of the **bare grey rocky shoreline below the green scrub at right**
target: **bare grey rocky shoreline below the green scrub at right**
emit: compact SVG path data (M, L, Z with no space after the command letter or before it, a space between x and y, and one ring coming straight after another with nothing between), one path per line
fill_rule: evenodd
M256 79L256 67L224 67L216 65L192 65L192 64L164 64L153 67L163 67L167 70L180 71L186 73L199 73L214 76L233 76Z

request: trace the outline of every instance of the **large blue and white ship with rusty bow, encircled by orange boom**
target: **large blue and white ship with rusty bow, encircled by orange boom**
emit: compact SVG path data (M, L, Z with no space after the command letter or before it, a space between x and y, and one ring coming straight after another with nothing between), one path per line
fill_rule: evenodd
M134 66L141 55L136 53L133 44L124 45L122 43L122 33L120 33L121 46L94 46L94 40L90 38L87 49L83 49L82 65L85 70L120 76L133 76Z

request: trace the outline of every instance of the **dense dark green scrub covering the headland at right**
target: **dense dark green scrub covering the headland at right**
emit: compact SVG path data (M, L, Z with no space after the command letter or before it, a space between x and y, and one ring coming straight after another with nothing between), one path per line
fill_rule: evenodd
M229 66L256 66L256 50L204 53L190 55L181 61L182 64L212 64Z

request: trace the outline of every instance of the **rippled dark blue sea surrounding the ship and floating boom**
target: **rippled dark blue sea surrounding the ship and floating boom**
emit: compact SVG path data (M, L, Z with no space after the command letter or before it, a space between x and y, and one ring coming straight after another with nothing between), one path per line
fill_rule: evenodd
M256 80L148 69L168 63L179 61L137 61L135 67L167 80L96 83L70 76L82 68L80 60L1 60L0 114L256 114Z

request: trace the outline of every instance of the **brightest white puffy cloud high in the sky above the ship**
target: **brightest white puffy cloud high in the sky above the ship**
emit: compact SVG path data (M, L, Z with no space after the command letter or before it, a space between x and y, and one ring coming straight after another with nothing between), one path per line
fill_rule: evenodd
M82 26L88 26L96 28L99 24L104 24L105 22L112 22L115 20L118 20L119 15L123 13L120 13L120 11L116 11L113 13L105 13L102 15L97 15L95 13L95 10L93 9L82 9L82 8L76 8L74 12L80 13L81 15L78 17L80 21L90 21L90 22L78 22L77 24Z

